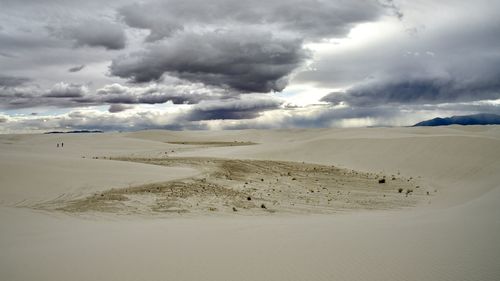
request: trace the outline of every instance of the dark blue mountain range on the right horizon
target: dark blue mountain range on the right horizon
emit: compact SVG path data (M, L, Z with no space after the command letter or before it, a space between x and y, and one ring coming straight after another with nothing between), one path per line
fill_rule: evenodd
M498 125L500 124L500 115L496 114L473 114L463 116L452 116L446 118L434 118L419 122L418 126L448 126L448 125Z

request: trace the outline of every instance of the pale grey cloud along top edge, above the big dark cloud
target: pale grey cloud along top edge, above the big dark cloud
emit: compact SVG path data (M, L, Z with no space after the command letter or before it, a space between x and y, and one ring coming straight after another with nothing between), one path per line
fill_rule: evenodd
M257 1L152 1L119 10L131 27L148 29L147 41L172 36L191 26L260 25L278 32L300 34L302 39L345 35L356 23L372 21L393 9L392 1L371 0L257 0Z

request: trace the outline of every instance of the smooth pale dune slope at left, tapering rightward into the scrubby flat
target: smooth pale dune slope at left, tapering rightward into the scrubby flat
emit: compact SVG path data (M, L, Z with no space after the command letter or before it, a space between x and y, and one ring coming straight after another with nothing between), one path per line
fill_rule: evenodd
M65 142L64 148L56 144ZM93 157L140 153L156 143L116 135L0 135L0 202L30 204L66 193L86 194L113 187L182 178L198 172L112 162Z

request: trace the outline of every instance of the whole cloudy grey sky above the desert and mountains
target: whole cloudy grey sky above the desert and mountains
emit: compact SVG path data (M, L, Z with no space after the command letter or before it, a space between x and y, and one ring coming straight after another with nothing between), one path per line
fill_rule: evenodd
M499 0L0 0L0 133L500 113Z

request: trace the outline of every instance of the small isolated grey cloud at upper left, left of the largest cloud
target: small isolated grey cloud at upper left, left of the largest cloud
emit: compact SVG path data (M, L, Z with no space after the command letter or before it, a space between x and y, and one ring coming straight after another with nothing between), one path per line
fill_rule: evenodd
M106 20L84 20L72 26L55 28L53 33L73 40L77 47L90 46L120 50L125 48L126 43L123 28Z

